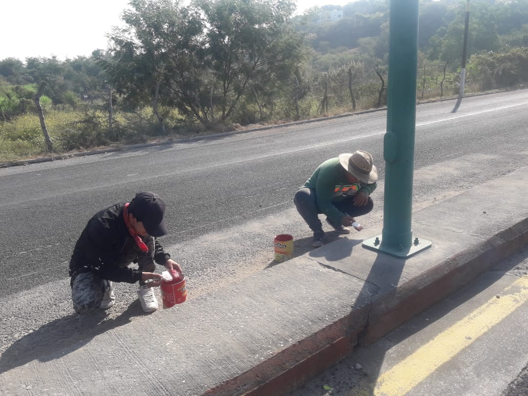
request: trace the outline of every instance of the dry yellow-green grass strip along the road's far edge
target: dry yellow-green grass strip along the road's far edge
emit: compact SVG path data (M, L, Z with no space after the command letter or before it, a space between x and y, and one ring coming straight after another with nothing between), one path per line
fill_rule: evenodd
M466 92L475 91L467 87ZM449 92L450 93L450 92ZM421 100L421 91L417 92ZM446 95L444 99L452 97ZM427 90L423 101L439 100L439 90ZM376 98L357 98L356 112L373 109L377 105ZM319 100L316 98L305 98L299 103L300 119L314 119L320 117L336 116L352 112L350 98L346 105L340 105L337 100L330 100L328 110L320 108ZM384 103L382 103L382 107ZM157 120L153 117L150 109L143 109L134 113L116 111L115 128L113 134L108 136L108 114L101 110L59 110L50 108L45 110L45 122L54 145L54 155L82 152L88 149L99 149L104 147L116 147L118 145L129 145L137 143L156 142L166 139L177 139L181 137L209 135L220 131L243 130L257 126L281 125L297 119L296 111L291 104L277 103L281 114L271 115L266 122L257 122L248 126L238 124L231 126L219 126L214 130L205 130L197 125L185 125L176 111L168 112L166 121L168 133L161 135L157 133ZM44 136L39 117L36 114L26 114L11 121L0 122L0 163L23 161L25 159L41 158L50 156L46 151Z

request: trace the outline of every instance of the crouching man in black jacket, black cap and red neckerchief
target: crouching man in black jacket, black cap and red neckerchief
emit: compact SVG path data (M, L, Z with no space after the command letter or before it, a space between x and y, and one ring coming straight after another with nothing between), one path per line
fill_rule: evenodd
M116 298L112 282L139 282L145 312L158 308L152 287L161 285L155 264L182 273L180 265L156 240L167 233L165 203L151 192L137 193L130 203L118 203L96 213L81 233L70 260L73 308L78 313L107 309ZM128 266L137 262L138 269ZM152 279L148 285L146 280Z

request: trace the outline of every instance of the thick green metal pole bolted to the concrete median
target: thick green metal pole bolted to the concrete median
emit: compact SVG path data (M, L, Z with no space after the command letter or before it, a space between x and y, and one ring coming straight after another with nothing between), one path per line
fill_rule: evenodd
M413 239L411 229L418 0L391 0L389 35L383 231L381 236L365 241L363 246L409 257L431 245L428 241Z

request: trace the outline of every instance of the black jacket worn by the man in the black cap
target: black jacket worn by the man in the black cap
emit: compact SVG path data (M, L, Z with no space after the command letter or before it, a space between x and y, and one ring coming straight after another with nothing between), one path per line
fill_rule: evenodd
M141 280L141 269L128 268L131 262L137 262L138 257L165 265L171 256L163 250L161 244L154 238L153 243L147 243L152 237L143 238L154 252L143 252L128 232L123 217L124 203L118 203L110 208L96 213L84 228L77 241L70 260L71 277L80 272L93 271L103 279L116 282L135 283ZM148 258L147 258L148 257Z

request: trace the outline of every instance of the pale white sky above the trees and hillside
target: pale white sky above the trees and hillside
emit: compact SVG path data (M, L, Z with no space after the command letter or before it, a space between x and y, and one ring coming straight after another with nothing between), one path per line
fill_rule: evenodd
M352 0L297 0L297 13L313 6ZM129 0L5 0L0 20L0 60L55 55L60 60L90 56L107 48L106 34L120 25Z

